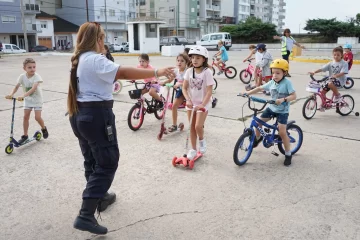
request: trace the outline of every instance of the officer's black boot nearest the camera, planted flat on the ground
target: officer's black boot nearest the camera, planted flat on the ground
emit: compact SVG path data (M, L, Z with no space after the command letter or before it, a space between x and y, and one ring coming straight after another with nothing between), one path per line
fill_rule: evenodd
M79 216L74 222L74 228L94 234L107 233L107 228L99 225L94 216L98 201L99 199L83 199Z

